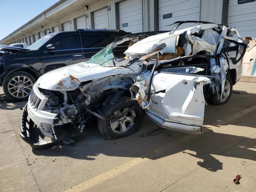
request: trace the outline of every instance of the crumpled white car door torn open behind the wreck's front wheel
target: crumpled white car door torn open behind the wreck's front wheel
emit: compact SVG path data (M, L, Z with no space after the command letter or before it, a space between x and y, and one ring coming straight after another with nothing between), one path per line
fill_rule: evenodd
M149 81L147 75L145 79ZM147 116L164 128L202 133L203 85L210 82L206 76L155 72L151 86L152 104L146 109Z

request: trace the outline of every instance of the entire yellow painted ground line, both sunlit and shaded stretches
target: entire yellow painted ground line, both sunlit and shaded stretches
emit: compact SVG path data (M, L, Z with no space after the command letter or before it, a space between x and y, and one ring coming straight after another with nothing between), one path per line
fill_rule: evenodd
M236 120L237 118L240 118L241 116L244 116L245 114L248 114L252 111L256 110L256 105L250 107L250 108L247 108L245 110L242 110L232 116L229 116L229 117L226 117L224 119L221 120L221 122L216 122L212 125L206 125L205 127L209 127L209 128L215 128L217 125L223 125L223 124L227 124L228 122L232 121L232 120ZM195 136L195 134L193 134ZM189 134L188 136L191 136L191 134ZM185 136L186 137L186 136ZM166 144L164 146L161 146L160 148L157 148L151 152L148 153L147 156L154 156L157 154L157 152L168 146L169 144ZM86 180L76 186L73 186L72 188L66 190L65 192L80 192L80 191L85 191L89 188L91 188L92 186L95 186L97 184L100 184L100 183L103 183L105 182L106 180L109 180L110 178L114 178L115 176L118 176L128 170L130 170L131 168L137 166L138 164L141 164L142 162L144 161L147 161L149 160L148 158L146 158L147 156L144 156L144 157L141 157L141 158L134 158L133 160L125 163L125 164L122 164L112 170L109 170L107 172L104 172L94 178L91 178L89 180Z

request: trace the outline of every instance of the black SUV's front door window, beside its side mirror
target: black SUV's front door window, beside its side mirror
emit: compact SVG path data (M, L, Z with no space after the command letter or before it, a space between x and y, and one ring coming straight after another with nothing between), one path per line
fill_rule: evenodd
M81 48L80 38L78 35L61 37L53 42L55 50L70 50Z

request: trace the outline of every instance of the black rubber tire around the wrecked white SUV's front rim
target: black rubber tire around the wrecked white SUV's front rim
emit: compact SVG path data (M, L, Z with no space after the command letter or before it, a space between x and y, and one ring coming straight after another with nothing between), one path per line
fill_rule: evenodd
M123 96L118 100L118 102L116 102L116 104L114 104L114 105L107 104L106 106L104 106L101 109L101 111L107 118L111 118L111 117L113 117L114 113L116 113L118 110L121 111L124 108L128 108L126 105L126 102L131 102L130 98ZM106 139L112 140L112 139L126 137L126 136L134 134L135 132L138 132L138 130L140 129L142 122L143 122L143 110L138 105L138 103L136 101L134 102L134 108L132 110L133 110L132 113L135 112L135 115L136 115L136 117L134 119L134 124L132 125L130 130L128 130L127 132L123 132L123 133L116 133L111 129L110 123L113 123L113 122L110 122L109 120L103 120L103 119L98 118L98 130L100 131L102 136ZM118 129L118 127L117 127L117 129ZM121 128L120 128L120 130L121 130Z

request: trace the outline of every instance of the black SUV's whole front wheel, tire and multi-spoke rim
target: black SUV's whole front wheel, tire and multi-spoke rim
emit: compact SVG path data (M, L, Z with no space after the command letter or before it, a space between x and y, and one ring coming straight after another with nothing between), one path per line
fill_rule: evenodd
M35 82L35 78L27 72L14 72L3 82L4 93L13 101L26 100Z

